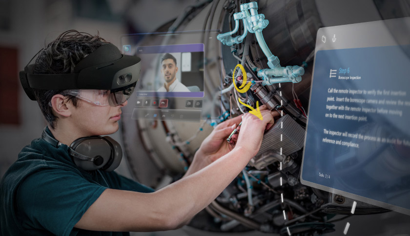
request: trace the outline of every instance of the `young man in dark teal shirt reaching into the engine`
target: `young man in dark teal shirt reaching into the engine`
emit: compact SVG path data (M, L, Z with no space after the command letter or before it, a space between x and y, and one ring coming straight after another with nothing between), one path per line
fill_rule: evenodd
M104 45L98 36L65 32L42 50L34 74L71 76ZM71 144L79 138L118 130L121 108L127 101L118 94L113 97L114 92L35 91L48 123L46 136L58 144L46 138L34 139L2 178L1 235L114 236L176 229L237 177L258 152L273 116L279 115L262 106L263 120L245 114L219 124L201 144L184 177L154 192L115 172L84 170L74 161L79 156L70 152L74 148ZM234 136L237 142L233 147L226 137L241 120L241 132Z

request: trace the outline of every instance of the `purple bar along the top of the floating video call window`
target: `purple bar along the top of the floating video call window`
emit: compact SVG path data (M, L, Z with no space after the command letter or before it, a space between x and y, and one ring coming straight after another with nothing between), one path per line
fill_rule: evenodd
M137 47L138 54L204 52L204 43Z

